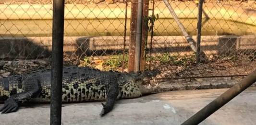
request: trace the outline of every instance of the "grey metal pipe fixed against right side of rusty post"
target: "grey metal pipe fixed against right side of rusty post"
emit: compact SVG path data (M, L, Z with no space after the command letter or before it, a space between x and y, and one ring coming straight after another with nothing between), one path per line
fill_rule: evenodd
M135 44L135 67L134 71L140 70L140 55L141 55L141 38L142 38L142 18L143 18L143 0L138 0L137 9L137 26L136 26L136 44Z

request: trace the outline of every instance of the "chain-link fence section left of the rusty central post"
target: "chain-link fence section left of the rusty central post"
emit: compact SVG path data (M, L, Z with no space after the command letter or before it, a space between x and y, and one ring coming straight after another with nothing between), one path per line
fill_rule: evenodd
M1 76L49 68L52 2L0 0ZM123 0L66 0L64 65L124 69L127 8Z

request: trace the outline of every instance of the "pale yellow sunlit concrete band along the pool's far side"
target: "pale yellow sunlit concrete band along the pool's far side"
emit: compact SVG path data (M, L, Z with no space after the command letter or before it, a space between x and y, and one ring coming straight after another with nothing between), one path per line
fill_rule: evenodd
M171 3L179 18L196 18L195 3ZM172 18L163 2L156 3L155 14L159 18ZM66 4L65 19L124 19L124 3L115 4ZM229 20L256 25L256 13L241 6L207 3L204 11L210 19ZM129 3L127 17L131 16ZM150 15L150 14L149 14ZM52 19L52 4L0 4L0 20Z

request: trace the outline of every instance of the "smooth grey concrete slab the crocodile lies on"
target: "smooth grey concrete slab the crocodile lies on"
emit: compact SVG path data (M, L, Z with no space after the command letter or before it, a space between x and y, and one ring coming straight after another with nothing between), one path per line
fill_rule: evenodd
M100 117L100 102L63 104L62 125L180 125L227 89L170 91L120 100ZM200 125L255 125L256 88L249 88ZM2 104L0 104L2 106ZM49 104L0 114L0 125L49 125Z

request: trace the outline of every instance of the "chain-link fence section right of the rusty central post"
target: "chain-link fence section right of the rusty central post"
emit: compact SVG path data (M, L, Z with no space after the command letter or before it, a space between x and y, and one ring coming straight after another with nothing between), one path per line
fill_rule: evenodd
M185 32L196 41L197 0L169 0ZM152 54L148 65L162 70L161 78L243 76L256 67L256 1L205 0L201 50L206 57L195 64L195 52L162 1L155 1ZM150 14L149 14L150 15ZM149 48L149 45L148 45Z

